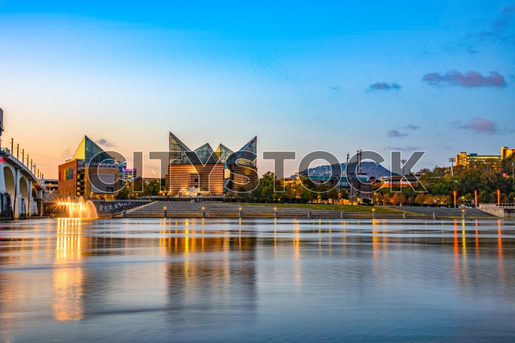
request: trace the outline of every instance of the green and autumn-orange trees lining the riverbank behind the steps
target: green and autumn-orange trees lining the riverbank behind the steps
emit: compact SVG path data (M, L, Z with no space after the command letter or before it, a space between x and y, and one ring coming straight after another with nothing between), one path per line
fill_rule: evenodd
M417 187L402 187L398 189L382 187L378 180L373 184L371 202L374 205L440 205L454 204L456 192L457 204L497 203L497 190L501 203L515 203L515 179L513 178L515 156L501 161L473 161L468 166L435 167L433 170L422 169L415 175L420 183ZM408 174L407 176L413 176ZM143 190L143 192L141 192ZM164 179L153 179L143 182L141 178L128 183L118 192L118 199L130 197L160 195L166 193ZM252 203L336 203L340 199L347 200L349 194L345 189L327 189L317 185L309 178L303 178L302 184L287 184L283 186L273 172L266 172L260 178L259 184L239 186L236 191L228 191L228 198L236 198L240 202ZM363 198L367 203L368 199Z

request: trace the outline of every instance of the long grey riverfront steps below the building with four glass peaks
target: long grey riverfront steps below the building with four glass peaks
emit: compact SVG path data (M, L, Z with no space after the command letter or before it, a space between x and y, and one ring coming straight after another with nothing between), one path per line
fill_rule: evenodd
M329 205L330 206L330 205ZM270 206L245 206L236 204L202 204L202 203L183 203L183 202L166 202L156 201L135 207L126 211L127 218L202 218L205 212L205 218L239 218L240 212L242 218L311 218L312 219L340 219L341 211L339 210L310 210L305 208L285 208L278 207L274 209ZM344 212L344 218L372 218L374 215L370 212ZM123 212L119 212L116 217L122 217ZM377 219L402 219L403 213L375 213ZM407 218L411 219L431 219L431 215L414 215L407 214Z

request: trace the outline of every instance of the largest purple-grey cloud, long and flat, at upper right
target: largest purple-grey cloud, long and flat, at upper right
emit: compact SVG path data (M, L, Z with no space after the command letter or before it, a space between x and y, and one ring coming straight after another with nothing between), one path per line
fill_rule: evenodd
M483 76L476 71L467 71L465 74L459 71L451 70L447 74L428 73L422 77L425 81L433 86L451 85L462 87L498 87L506 86L504 77L496 71L491 71L489 76Z

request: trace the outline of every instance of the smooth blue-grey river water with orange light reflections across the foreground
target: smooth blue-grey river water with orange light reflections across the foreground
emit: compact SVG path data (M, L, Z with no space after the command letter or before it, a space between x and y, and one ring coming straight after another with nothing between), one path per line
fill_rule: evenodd
M0 225L0 340L515 337L514 221Z

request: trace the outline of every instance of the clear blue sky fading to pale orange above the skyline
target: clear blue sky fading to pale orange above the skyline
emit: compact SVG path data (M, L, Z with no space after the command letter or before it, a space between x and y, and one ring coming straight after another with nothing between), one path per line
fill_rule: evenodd
M286 175L318 150L386 168L425 151L417 171L515 148L513 1L0 0L0 45L2 147L45 178L84 135L129 167L170 131L191 149L258 136L260 174L263 151L296 152Z

